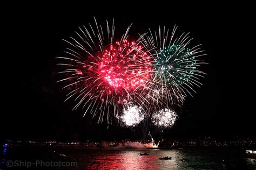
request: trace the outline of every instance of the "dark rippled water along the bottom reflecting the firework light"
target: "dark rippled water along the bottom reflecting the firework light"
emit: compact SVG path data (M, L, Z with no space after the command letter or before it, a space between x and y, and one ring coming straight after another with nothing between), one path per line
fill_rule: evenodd
M52 152L64 153L70 158L62 162L76 162L75 166L60 167L31 165L30 169L256 169L256 159L234 155L230 148L191 147L172 150L84 150L78 148L17 147L2 152L1 170L8 160L19 163L52 160ZM149 153L140 156L139 152ZM161 157L171 160L159 160ZM24 165L22 165L24 167ZM15 169L18 167L15 167Z

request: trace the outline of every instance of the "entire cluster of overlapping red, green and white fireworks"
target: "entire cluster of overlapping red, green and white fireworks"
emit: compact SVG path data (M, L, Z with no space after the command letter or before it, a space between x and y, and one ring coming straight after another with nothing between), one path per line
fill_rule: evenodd
M129 26L116 40L114 21L111 25L98 25L95 19L64 40L68 47L57 57L62 66L57 82L68 91L65 101L72 99L73 110L83 108L84 116L89 112L98 123L117 118L133 126L152 117L159 126L170 126L176 112L163 108L183 103L201 85L205 73L199 66L205 62L199 58L205 54L200 45L190 47L188 34L174 38L176 26L171 35L159 27L159 33L150 30L135 40L128 36Z

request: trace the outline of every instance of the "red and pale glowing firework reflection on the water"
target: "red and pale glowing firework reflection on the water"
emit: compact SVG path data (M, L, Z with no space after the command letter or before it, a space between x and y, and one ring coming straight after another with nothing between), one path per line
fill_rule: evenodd
M140 156L139 152L149 155ZM91 154L91 153L90 153ZM178 168L183 155L179 150L130 150L130 151L95 151L94 157L80 157L81 164L87 168L121 168L121 169L163 169ZM171 160L159 160L162 157L172 157ZM86 160L86 161L84 161Z

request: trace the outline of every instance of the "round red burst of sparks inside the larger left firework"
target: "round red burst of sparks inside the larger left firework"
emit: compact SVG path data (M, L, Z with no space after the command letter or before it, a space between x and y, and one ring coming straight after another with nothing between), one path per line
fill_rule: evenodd
M114 90L130 91L150 78L150 61L141 45L127 40L122 44L117 41L104 50L98 67L99 77Z

